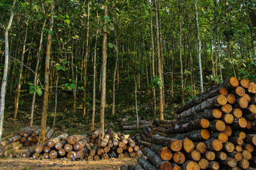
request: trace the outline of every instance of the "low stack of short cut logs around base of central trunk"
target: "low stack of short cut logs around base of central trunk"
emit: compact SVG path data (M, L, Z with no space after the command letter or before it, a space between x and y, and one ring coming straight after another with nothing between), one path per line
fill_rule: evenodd
M139 146L129 138L129 135L119 134L108 129L101 142L99 142L99 130L95 131L90 138L87 138L86 135L68 136L66 133L26 150L22 153L22 157L100 160L135 157L141 154Z

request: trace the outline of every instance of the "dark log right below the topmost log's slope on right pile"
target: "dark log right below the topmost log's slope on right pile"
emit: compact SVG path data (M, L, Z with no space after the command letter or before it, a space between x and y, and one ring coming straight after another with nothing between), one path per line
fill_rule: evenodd
M178 118L189 117L204 110L211 110L213 108L218 108L225 104L227 104L227 97L220 94L216 97L209 98L206 101L203 101L202 103L193 106L192 108L189 108L188 110L183 111L182 113L180 113L180 117L178 116Z

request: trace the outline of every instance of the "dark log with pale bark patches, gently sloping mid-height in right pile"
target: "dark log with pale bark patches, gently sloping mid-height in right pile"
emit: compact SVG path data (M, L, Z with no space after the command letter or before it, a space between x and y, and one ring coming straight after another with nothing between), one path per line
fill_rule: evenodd
M193 122L188 122L186 124L175 125L173 127L170 127L166 131L166 133L167 134L184 133L184 132L193 131L197 129L205 129L209 127L209 125L210 125L209 120L205 118L200 118L200 119L194 120Z

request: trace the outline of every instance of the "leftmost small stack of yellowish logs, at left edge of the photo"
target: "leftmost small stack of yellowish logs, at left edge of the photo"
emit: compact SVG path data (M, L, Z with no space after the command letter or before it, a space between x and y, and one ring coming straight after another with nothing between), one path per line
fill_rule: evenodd
M52 136L53 130L50 127L46 129L45 139L49 139ZM29 146L34 145L38 141L38 136L40 134L40 128L37 125L33 127L25 127L16 133L5 133L3 138L1 138L0 143L0 156L7 157L16 150L22 148L23 145Z

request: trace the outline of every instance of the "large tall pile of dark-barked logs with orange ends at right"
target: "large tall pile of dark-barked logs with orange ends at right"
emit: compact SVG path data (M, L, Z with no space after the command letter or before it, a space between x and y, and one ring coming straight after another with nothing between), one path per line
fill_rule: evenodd
M230 78L155 119L136 140L147 159L135 169L253 169L256 166L256 85Z

